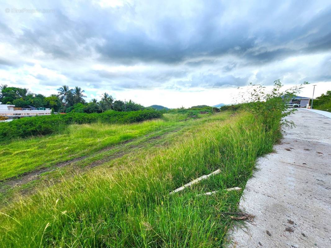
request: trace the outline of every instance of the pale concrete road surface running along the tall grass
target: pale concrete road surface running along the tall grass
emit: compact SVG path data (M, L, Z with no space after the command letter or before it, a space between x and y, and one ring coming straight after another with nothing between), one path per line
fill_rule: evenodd
M228 234L228 247L331 247L331 119L299 109L274 153L260 158L240 208L253 223Z

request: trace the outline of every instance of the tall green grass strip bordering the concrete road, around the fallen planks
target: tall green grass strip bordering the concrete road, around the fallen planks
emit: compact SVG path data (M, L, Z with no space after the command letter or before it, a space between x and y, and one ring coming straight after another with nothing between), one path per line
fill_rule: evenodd
M215 247L224 242L240 194L279 133L251 115L201 121L156 156L66 180L1 210L3 247ZM223 116L224 117L224 116ZM141 124L138 124L141 125ZM221 169L200 185L169 192ZM199 193L220 190L213 196Z

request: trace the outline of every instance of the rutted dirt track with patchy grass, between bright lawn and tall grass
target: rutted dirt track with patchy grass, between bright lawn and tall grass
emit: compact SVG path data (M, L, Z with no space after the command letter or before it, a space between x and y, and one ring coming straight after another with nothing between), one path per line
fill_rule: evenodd
M126 160L135 158L136 154L139 154L137 159L141 159L142 156L153 156L158 151L170 147L178 140L178 137L183 138L183 135L190 134L190 130L194 130L201 123L213 122L215 117L217 117L217 120L224 120L228 118L229 114L213 116L213 118L208 117L181 121L181 115L166 113L163 120L166 122L171 121L172 123L163 123L160 128L146 135L138 136L128 142L111 145L105 149L91 152L84 157L70 160L71 163L64 167L60 164L50 165L47 167L48 169L46 168L45 172L44 170L38 172L39 168L44 167L43 165L39 166L39 168L32 170L35 171L35 176L33 177L31 175L22 177L19 175L18 177L0 182L0 208L3 205L7 205L8 202L19 199L22 193L26 195L35 192L36 189L42 190L42 187L49 187L76 174L85 173L91 167L123 166ZM167 118L168 116L169 118ZM134 161L130 163L134 163ZM13 181L18 183L15 187L13 187L13 183L15 184Z

